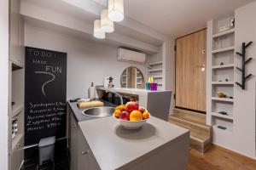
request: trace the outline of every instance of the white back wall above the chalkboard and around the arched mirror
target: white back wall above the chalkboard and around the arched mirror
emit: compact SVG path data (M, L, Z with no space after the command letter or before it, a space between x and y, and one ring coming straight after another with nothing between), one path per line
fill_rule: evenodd
M103 77L112 76L116 87L127 66L137 66L147 77L147 68L117 61L117 48L81 41L67 35L33 26L25 26L25 44L34 48L67 53L67 99L87 96L90 82L103 84Z

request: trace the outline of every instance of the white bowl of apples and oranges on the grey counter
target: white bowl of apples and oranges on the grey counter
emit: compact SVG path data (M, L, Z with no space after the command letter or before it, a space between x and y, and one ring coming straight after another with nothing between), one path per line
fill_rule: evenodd
M139 107L137 102L130 101L126 105L117 106L113 112L113 117L119 121L122 127L137 129L147 122L150 113L147 109Z

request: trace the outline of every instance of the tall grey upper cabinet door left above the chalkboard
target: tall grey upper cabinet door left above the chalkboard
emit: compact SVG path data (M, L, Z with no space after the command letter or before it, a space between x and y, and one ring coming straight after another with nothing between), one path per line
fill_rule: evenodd
M24 21L20 15L20 0L9 1L9 59L23 67L25 63Z

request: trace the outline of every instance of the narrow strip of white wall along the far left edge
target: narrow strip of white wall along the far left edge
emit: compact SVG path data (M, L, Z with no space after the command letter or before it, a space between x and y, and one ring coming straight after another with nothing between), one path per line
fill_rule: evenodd
M9 1L0 2L0 167L8 169Z

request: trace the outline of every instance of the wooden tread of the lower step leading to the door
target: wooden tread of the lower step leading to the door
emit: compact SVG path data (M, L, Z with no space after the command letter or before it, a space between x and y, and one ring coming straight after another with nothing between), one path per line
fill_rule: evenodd
M204 128L197 127L193 124L178 122L177 120L173 119L172 117L169 118L169 122L176 124L177 126L184 127L189 129L190 131L190 138L198 140L202 143L211 140L210 132Z

